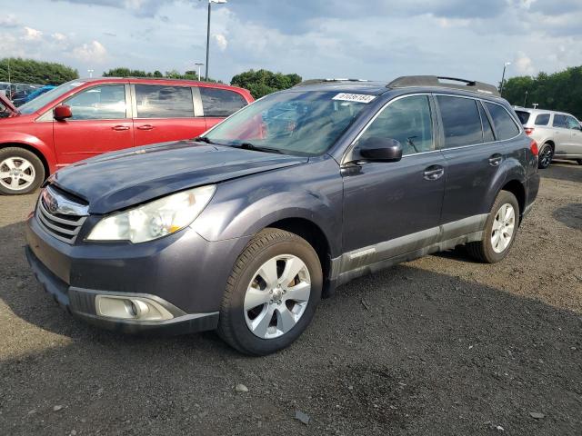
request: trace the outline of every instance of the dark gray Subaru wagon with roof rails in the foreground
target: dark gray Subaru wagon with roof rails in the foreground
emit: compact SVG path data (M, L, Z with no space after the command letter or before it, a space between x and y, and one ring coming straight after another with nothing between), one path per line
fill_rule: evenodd
M537 196L537 144L495 86L457 83L299 85L194 141L66 167L27 221L28 261L88 322L217 329L256 355L367 272L459 244L499 262Z

